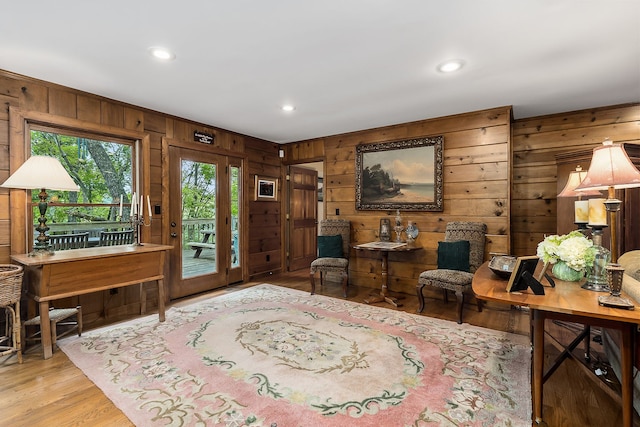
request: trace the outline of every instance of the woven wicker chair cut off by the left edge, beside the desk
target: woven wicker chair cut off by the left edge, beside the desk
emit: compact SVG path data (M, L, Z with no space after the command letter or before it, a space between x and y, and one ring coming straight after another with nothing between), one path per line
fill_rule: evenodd
M24 270L19 265L0 264L0 308L6 312L4 335L0 336L0 356L17 353L18 363L22 363L20 296L23 275Z

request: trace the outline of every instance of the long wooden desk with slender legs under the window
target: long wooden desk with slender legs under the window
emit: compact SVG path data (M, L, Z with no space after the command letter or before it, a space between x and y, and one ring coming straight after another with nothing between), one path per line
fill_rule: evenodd
M164 259L173 246L102 246L53 255L12 255L24 266L28 294L39 304L44 358L53 355L49 301L121 286L158 282L158 317L164 322ZM141 301L142 303L142 301Z

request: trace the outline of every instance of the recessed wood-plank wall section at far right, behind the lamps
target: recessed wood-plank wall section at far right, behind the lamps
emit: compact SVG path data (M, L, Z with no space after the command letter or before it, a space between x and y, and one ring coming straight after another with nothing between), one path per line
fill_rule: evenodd
M512 252L534 255L545 235L556 234L556 156L592 150L605 138L640 144L640 104L515 120L512 129Z

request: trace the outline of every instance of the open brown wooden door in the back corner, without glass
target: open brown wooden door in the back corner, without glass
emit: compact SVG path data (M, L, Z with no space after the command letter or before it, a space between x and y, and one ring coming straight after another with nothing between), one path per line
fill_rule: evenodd
M289 271L309 268L316 259L318 172L289 167Z

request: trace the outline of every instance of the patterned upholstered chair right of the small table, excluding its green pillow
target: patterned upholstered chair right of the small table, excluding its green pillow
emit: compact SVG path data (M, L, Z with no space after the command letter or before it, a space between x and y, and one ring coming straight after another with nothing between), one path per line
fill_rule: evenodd
M418 313L424 310L425 286L443 289L445 302L448 300L448 291L454 291L458 300L458 323L462 323L462 306L465 292L471 291L473 273L484 261L486 224L479 222L450 222L445 230L445 242L467 240L469 242L469 271L450 269L428 270L420 273L418 278L418 300L420 307ZM478 311L482 311L482 302L477 300Z

